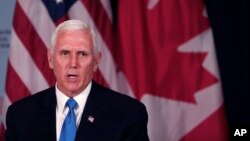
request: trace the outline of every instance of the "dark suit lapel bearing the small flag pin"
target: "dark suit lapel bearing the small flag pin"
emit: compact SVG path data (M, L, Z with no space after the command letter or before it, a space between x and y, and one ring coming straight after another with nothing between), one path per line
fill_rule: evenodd
M92 88L87 98L80 125L77 130L76 141L93 140L95 136L96 120L100 118L102 108L102 94L98 84L92 82Z

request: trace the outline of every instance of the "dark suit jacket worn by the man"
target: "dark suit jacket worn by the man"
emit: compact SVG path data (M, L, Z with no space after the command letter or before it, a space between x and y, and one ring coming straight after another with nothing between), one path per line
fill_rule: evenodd
M76 141L148 141L147 121L142 103L93 81ZM56 141L55 87L12 104L6 125L6 141Z

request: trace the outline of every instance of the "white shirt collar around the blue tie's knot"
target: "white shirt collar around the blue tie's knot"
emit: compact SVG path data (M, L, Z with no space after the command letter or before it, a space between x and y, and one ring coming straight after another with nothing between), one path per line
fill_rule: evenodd
M83 109L83 107L86 104L88 95L90 93L90 89L92 86L92 81L90 81L90 83L88 84L88 86L77 96L73 97L74 100L77 102L78 104L78 108L80 107L80 109ZM57 83L56 83L56 100L57 100L57 110L58 112L64 112L65 110L65 104L67 102L67 100L69 99L68 96L66 96L63 92L61 92L58 87L57 87Z

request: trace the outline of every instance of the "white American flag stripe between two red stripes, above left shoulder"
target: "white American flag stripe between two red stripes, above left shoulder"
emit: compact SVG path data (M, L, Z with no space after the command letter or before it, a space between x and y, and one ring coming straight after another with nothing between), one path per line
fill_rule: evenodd
M47 88L49 86L48 83L17 37L16 32L12 30L11 33L12 42L9 49L9 61L13 66L13 69L16 71L20 79L22 79L30 93L35 93ZM39 84L32 82L39 82Z

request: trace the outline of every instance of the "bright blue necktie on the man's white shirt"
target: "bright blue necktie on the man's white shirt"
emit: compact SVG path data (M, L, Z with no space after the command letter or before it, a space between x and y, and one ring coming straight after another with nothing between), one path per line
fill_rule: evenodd
M74 109L77 106L77 102L73 98L70 98L66 102L66 106L69 107L69 112L65 117L59 141L74 141L76 136L76 116Z

